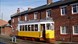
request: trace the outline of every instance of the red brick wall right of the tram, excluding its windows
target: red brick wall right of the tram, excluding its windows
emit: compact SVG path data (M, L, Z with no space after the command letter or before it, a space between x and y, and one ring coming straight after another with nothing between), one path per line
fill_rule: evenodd
M60 7L52 8L52 17L55 22L55 36L56 40L59 41L77 41L78 35L73 35L72 26L78 25L78 14L72 14L71 6L67 6L67 14L65 16L61 16ZM69 19L70 18L70 19ZM68 34L61 35L60 34L60 26L68 26ZM63 40L64 39L64 40Z

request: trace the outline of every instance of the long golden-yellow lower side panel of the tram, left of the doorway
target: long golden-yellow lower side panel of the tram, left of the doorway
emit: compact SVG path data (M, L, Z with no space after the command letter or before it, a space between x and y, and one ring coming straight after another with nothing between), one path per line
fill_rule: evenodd
M26 36L26 37L35 37L40 38L41 32L37 31L20 31L18 32L18 36Z

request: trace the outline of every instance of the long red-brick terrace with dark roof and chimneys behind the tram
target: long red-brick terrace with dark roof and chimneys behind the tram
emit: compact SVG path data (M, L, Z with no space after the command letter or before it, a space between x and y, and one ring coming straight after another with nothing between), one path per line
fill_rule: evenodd
M17 26L20 21L31 21L41 19L53 19L55 40L66 42L78 42L78 0L60 0L53 2L47 0L47 4L29 8L26 11L11 16L11 24L14 28L13 34L17 35Z

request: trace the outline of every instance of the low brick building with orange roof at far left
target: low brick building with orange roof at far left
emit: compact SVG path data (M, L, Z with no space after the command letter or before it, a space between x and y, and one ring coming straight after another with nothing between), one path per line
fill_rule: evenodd
M7 21L0 20L0 35L10 36L12 33L12 28L8 25Z

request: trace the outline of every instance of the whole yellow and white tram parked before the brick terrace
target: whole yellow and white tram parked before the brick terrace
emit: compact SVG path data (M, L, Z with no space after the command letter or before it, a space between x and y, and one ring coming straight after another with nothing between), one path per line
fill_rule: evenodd
M18 23L17 36L54 41L54 32L54 22L52 20L27 21Z

